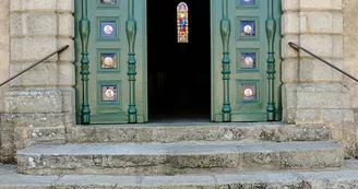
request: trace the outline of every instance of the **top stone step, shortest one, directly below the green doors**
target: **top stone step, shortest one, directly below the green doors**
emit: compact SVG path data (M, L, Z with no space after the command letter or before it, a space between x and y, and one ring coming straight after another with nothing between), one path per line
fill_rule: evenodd
M181 141L325 141L325 126L299 126L282 122L177 122L118 126L75 126L67 130L71 143L181 142Z

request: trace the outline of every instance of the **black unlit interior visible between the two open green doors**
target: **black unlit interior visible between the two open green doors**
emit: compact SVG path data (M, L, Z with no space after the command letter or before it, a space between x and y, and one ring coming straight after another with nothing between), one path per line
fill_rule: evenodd
M179 0L147 3L150 121L210 120L210 1L186 0L189 43L177 43Z

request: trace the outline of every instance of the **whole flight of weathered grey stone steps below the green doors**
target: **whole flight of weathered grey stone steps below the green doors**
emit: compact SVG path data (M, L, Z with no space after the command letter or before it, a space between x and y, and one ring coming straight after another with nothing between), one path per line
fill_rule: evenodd
M49 179L52 188L63 189L309 189L337 174L349 177L349 185L358 180L351 178L358 168L347 166L343 146L331 141L330 129L321 126L76 126L68 129L68 141L20 150L19 178Z

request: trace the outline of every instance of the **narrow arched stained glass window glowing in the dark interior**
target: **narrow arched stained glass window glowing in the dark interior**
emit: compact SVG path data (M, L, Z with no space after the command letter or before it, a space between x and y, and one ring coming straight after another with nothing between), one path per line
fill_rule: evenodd
M180 2L177 7L177 22L178 22L178 43L189 42L189 20L188 20L188 5Z

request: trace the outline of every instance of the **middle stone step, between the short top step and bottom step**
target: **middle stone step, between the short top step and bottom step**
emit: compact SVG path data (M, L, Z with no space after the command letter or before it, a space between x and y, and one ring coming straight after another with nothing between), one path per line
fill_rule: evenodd
M339 167L343 161L343 146L330 141L41 144L17 151L17 170L32 175L305 169Z

